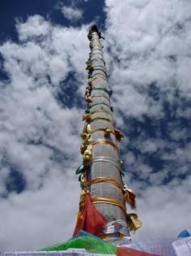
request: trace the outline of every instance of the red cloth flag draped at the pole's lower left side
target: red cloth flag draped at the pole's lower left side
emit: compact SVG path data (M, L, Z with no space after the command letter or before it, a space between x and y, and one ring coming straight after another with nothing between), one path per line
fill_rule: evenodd
M107 223L107 221L104 219L103 215L96 210L96 207L91 202L90 194L87 193L84 197L83 209L77 219L74 235L78 234L78 232L83 229L92 235L99 236L105 223Z

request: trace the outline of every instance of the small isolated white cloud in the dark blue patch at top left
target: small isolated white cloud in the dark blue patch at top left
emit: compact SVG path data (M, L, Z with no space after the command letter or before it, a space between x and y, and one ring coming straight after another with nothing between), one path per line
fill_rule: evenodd
M83 18L83 10L76 7L63 6L62 13L67 20L70 20L72 22L81 20Z

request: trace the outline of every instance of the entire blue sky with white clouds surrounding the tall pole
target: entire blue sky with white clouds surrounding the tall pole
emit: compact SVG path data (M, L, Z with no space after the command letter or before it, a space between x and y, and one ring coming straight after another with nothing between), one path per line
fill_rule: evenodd
M0 250L69 238L78 210L87 31L98 24L134 240L191 230L189 0L1 1Z

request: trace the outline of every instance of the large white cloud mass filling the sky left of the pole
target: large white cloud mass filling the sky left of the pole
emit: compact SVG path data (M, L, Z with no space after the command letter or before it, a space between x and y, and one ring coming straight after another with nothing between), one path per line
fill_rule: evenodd
M82 97L87 28L61 28L34 15L17 31L19 43L0 46L9 76L0 88L2 250L40 249L72 235L79 201L74 171L82 161L83 110L64 105L57 93L62 87L64 97L74 93L71 101ZM68 87L70 72L76 80ZM22 193L7 194L12 168L26 181Z

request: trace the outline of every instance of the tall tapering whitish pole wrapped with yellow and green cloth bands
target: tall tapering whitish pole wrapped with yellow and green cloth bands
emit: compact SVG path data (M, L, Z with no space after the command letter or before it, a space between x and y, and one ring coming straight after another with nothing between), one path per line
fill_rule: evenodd
M81 176L81 184L83 188L87 184L94 206L107 221L104 229L100 230L100 236L115 240L130 236L129 230L136 229L138 222L137 215L126 213L125 201L134 206L135 194L124 187L121 178L122 167L117 145L121 133L113 124L111 92L108 90L100 38L96 25L92 26L88 34L91 53L87 61L87 109L83 116L85 124L81 146L86 173Z

